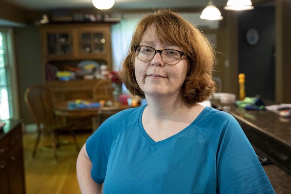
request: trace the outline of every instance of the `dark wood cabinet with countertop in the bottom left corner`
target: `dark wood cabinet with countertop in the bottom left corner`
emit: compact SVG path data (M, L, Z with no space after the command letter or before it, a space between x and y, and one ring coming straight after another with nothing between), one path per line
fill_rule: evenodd
M0 193L24 194L24 162L21 122L5 121L0 133Z

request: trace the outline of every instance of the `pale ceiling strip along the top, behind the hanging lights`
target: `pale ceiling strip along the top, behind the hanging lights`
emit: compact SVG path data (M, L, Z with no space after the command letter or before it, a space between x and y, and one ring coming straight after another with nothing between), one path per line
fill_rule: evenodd
M58 8L94 8L91 0L4 0L32 10ZM106 1L106 0L104 0ZM212 0L215 6L225 6L227 0ZM116 9L205 7L208 0L115 0Z

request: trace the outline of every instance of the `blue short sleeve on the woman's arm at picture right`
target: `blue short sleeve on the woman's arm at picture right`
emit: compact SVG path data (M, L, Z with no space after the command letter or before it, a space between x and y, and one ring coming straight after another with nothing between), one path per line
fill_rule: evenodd
M219 193L275 193L238 122L229 115L217 153Z

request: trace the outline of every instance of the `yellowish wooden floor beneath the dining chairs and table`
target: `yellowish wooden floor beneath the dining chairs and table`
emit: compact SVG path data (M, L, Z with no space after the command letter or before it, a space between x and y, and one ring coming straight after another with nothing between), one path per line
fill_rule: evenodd
M77 135L80 148L89 136L90 133ZM35 140L36 134L23 136L26 194L80 194L76 176L78 152L72 136L60 136L60 140L68 140L69 143L58 149L57 163L52 151L38 149L36 157L32 158ZM50 145L50 138L42 136L40 146L47 145Z

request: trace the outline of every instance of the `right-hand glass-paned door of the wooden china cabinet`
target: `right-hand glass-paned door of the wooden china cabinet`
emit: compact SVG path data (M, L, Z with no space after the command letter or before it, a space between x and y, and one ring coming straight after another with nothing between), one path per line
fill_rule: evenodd
M80 38L80 49L83 54L102 54L105 38L103 32L82 32Z

